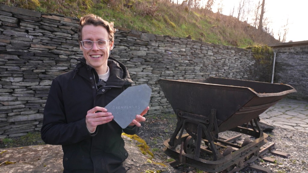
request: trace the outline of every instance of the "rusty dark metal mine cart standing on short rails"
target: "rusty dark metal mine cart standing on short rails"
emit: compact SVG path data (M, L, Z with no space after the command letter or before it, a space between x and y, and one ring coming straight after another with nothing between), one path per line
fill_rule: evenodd
M164 152L179 163L208 172L232 173L259 158L268 136L258 125L259 115L296 92L286 84L217 77L160 79L158 83L177 117ZM248 128L249 123L254 126ZM234 144L218 137L225 131L249 135L253 140Z

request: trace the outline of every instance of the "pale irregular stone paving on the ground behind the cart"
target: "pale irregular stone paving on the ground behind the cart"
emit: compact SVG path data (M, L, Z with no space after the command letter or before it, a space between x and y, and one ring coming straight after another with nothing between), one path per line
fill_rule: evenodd
M270 125L308 133L307 101L282 99L259 117Z

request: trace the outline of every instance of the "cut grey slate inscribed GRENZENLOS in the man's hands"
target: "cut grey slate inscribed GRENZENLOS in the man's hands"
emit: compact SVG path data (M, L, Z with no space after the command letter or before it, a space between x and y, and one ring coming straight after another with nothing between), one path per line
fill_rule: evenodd
M113 119L123 129L148 107L152 90L146 85L128 87L118 97L112 100L105 108L111 112Z

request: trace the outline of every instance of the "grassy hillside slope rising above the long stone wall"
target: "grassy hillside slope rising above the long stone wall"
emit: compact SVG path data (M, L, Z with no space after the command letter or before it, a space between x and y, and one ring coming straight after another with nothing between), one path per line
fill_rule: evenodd
M277 43L270 34L236 18L207 10L188 10L168 0L0 0L0 3L80 18L94 13L116 27L203 42L246 47Z

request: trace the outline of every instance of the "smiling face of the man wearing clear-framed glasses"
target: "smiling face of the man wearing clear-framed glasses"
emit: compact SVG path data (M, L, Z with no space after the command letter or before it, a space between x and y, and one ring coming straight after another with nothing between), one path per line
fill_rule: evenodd
M96 41L109 40L109 35L103 26L85 25L81 31L82 41L90 40L94 42L91 49L87 50L80 44L80 49L83 51L83 56L87 64L93 67L98 74L105 74L107 72L107 60L109 51L113 48L113 41L108 41L104 49L100 49Z

